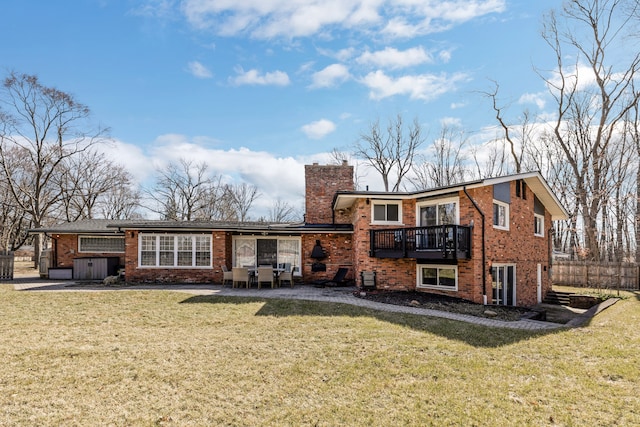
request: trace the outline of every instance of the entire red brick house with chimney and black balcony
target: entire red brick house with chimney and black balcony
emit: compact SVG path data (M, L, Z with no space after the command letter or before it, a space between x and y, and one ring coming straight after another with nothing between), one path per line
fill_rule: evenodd
M306 283L360 284L533 305L551 288L551 222L567 213L537 172L408 193L355 191L353 167L305 166L305 221L88 220L34 230L51 266L116 258L131 282L222 282L222 266L290 263ZM316 249L319 249L316 250ZM322 254L313 257L314 254Z

